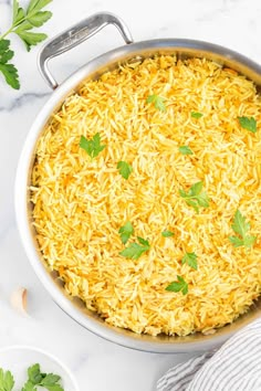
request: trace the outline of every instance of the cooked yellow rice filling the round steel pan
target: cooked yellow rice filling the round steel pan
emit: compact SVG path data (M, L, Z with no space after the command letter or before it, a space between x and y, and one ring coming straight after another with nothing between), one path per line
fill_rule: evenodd
M146 103L152 94L166 112ZM239 116L254 117L258 131ZM92 160L79 144L96 133L106 148ZM194 155L181 155L182 145ZM261 294L260 156L261 98L252 82L215 62L155 56L87 81L36 147L31 192L43 258L111 325L185 336L229 324ZM119 160L133 166L128 180ZM179 196L197 181L210 199L199 213ZM257 235L249 250L228 239L237 209ZM127 221L128 243L150 244L136 261L119 255ZM197 254L197 271L181 265L186 252ZM178 275L187 295L166 290Z

